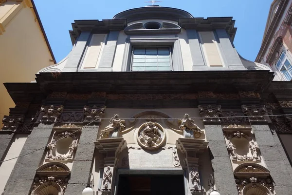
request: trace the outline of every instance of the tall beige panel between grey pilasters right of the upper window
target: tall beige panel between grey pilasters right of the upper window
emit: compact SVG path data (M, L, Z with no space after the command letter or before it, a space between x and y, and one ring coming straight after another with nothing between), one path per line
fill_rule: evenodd
M217 48L217 41L215 40L213 32L200 32L202 39L203 51L208 66L222 66L220 54Z

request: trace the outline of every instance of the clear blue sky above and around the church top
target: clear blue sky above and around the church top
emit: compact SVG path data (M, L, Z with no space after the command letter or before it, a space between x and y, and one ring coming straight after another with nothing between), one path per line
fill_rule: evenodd
M146 0L34 0L56 61L72 49L69 30L74 20L112 19L117 13L146 6ZM157 4L183 9L194 17L233 17L234 44L245 59L254 61L261 45L273 0L163 0Z

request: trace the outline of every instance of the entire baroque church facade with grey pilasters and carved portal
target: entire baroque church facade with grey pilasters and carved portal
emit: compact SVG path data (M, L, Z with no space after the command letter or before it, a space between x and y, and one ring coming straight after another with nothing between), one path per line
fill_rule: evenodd
M238 55L234 25L160 6L75 20L65 59L5 83L2 195L291 194L292 86Z

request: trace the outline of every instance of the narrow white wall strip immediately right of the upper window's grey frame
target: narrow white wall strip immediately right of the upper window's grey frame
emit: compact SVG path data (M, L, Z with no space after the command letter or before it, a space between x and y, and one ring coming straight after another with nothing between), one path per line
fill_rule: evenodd
M193 60L190 51L190 47L188 45L188 37L186 31L182 29L181 33L178 34L181 43L181 51L183 58L183 70L192 71L193 70Z

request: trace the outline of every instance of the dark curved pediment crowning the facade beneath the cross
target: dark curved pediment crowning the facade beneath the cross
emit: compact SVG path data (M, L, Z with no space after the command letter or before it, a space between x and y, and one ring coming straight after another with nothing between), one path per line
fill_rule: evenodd
M138 20L171 20L178 21L180 18L194 18L190 13L176 8L147 6L129 9L118 13L113 17L116 19L127 19L128 23Z

